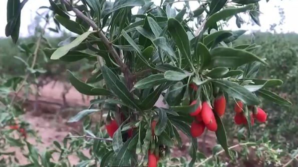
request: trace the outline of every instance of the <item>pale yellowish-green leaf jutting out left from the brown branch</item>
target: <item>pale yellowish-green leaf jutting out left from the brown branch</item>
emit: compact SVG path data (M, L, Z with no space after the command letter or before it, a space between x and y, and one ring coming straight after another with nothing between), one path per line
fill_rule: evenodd
M68 51L79 45L83 40L85 40L89 34L92 33L92 31L87 31L84 32L83 34L81 34L80 36L78 36L74 41L72 41L71 43L63 46L63 47L59 47L56 51L54 51L54 53L51 55L51 59L59 59L60 57L64 56L65 54L68 53Z

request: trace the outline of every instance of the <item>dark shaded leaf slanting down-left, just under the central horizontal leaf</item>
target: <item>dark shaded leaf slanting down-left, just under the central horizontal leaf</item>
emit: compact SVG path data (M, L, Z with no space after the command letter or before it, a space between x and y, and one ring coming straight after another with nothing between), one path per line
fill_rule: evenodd
M158 100L164 86L159 85L153 92L151 92L141 103L141 108L144 110L150 109Z

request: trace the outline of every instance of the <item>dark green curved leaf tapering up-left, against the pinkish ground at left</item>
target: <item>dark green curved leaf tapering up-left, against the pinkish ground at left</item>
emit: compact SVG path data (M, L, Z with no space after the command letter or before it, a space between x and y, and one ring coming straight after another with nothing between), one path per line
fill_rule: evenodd
M74 74L70 71L67 70L67 75L68 78L70 80L70 82L72 83L72 85L82 94L86 94L86 95L97 95L96 92L92 91L92 89L94 87L82 82L81 80L79 80L78 78L76 78L74 76Z

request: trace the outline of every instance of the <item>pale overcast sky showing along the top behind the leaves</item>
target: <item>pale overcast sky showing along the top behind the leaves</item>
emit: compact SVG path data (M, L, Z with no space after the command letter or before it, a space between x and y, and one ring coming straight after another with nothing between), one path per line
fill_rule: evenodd
M6 12L7 12L7 1L8 0L1 0L0 1L0 11L2 12L2 17L0 17L0 22L2 22L0 26L0 36L5 37L5 26L7 23ZM160 3L160 0L153 0L156 4ZM49 6L49 0L29 0L23 10L21 16L21 30L20 36L27 36L28 35L28 25L32 22L34 16L36 15L36 10L40 6ZM192 9L198 7L197 1L190 1L190 6ZM280 16L278 7L280 6L284 8L284 23L283 25L276 26L277 32L298 32L298 28L296 27L296 13L297 13L297 6L298 0L270 0L266 3L266 0L261 0L260 4L260 11L262 14L260 15L260 22L261 27L258 25L243 25L241 29L247 30L261 30L266 31L269 29L270 24L279 23ZM175 7L181 8L183 3L175 3ZM248 17L244 17L245 20L248 20ZM235 18L229 21L229 29L238 29L235 25ZM51 33L52 34L52 33Z

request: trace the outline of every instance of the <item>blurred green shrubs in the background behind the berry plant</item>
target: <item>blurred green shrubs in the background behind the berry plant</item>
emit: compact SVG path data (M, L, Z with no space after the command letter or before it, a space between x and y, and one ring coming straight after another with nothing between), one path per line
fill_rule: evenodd
M263 33L263 32L254 32L254 39L256 44L262 45L256 50L256 54L263 58L266 58L266 61L270 66L262 66L258 73L259 78L278 78L284 81L283 85L272 89L275 93L282 95L289 99L293 105L291 107L281 107L279 105L268 103L263 101L262 108L268 113L268 118L266 122L266 128L264 124L262 126L255 126L253 130L255 136L260 136L267 134L269 138L275 143L281 143L283 148L295 149L298 146L298 140L295 136L298 134L298 126L296 122L298 121L298 112L295 112L298 107L296 105L298 94L298 88L296 84L298 83L298 57L296 52L298 51L298 34L295 33L286 33L286 34L272 34L272 33ZM61 41L63 38L67 38L68 35L65 34L61 37L53 38L49 37L53 47L58 45L58 41ZM22 38L19 40L20 44L22 43L31 43L36 39L34 37ZM251 35L243 35L233 43L233 45L239 45L244 43L249 43L251 40ZM44 47L48 47L45 45ZM14 56L21 56L23 59L27 58L26 51L22 51L22 47L18 47L13 44L11 39L2 38L0 39L0 75L20 75L24 74L24 62L20 59L14 58ZM63 78L63 72L65 69L70 69L72 71L79 71L80 64L76 62L64 63L58 61L51 61L47 59L46 55L42 51L39 53L39 65L43 66L48 70L48 73L53 74L51 69L51 64L59 63L58 68L60 68L61 73L56 73ZM90 64L91 65L91 64ZM0 77L1 78L1 77ZM232 106L229 106L232 108ZM227 112L225 116L225 123L229 122L230 117L233 116L233 112ZM239 128L235 126L229 126L231 128ZM237 129L227 130L230 132L229 135L234 135L232 131Z

